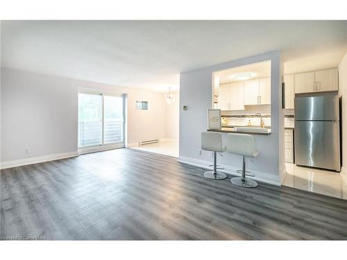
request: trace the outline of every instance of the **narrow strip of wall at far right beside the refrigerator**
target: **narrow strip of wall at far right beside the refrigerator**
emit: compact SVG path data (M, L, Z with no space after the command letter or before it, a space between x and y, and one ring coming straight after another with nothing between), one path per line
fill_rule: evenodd
M339 96L342 96L342 167L347 169L347 53L339 64Z

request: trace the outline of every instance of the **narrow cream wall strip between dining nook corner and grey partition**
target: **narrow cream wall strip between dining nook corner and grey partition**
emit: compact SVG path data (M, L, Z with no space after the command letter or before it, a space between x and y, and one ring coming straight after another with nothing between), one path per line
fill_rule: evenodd
M173 93L174 101L166 105L166 138L178 141L180 94Z

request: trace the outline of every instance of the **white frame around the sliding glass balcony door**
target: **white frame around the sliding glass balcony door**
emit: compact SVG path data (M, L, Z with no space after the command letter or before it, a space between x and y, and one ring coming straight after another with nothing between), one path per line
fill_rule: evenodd
M101 144L96 144L92 146L82 146L77 147L78 153L84 154L84 153L94 153L99 152L101 150L111 150L115 148L124 148L125 142L126 142L126 95L125 94L118 94L113 92L103 92L101 90L97 89L85 89L85 88L78 88L78 94L90 94L90 95L100 95L101 96L101 110L102 110L102 116L101 116ZM122 121L122 140L120 142L113 142L105 144L104 142L104 136L105 136L105 101L104 96L117 96L122 98L122 107L123 107L123 121ZM78 121L78 119L77 119Z

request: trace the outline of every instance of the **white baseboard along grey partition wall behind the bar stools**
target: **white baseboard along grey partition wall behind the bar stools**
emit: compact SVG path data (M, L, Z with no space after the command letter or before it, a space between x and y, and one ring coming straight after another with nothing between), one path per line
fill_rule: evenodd
M189 164L192 166L201 167L201 168L210 168L210 164L211 164L211 162L208 162L208 161L203 161L200 159L193 159L193 158L183 157L183 156L178 157L178 162L181 162L183 164ZM237 173L237 170L239 170L239 168L236 168L230 165L223 165L223 164L219 164L219 165L224 168L224 169L220 169L219 171L230 174L230 175L241 176L240 173ZM280 177L278 175L272 175L269 173L261 173L259 171L252 171L252 173L255 175L255 177L248 176L250 179L258 180L260 182L266 182L276 186L281 185Z

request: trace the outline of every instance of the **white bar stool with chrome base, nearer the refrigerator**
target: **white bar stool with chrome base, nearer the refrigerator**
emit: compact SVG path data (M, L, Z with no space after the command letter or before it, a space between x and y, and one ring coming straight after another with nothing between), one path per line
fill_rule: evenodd
M230 182L240 187L255 188L258 186L254 180L246 178L246 162L244 157L257 157L259 152L254 148L253 135L228 134L228 153L242 155L242 177L232 177Z

